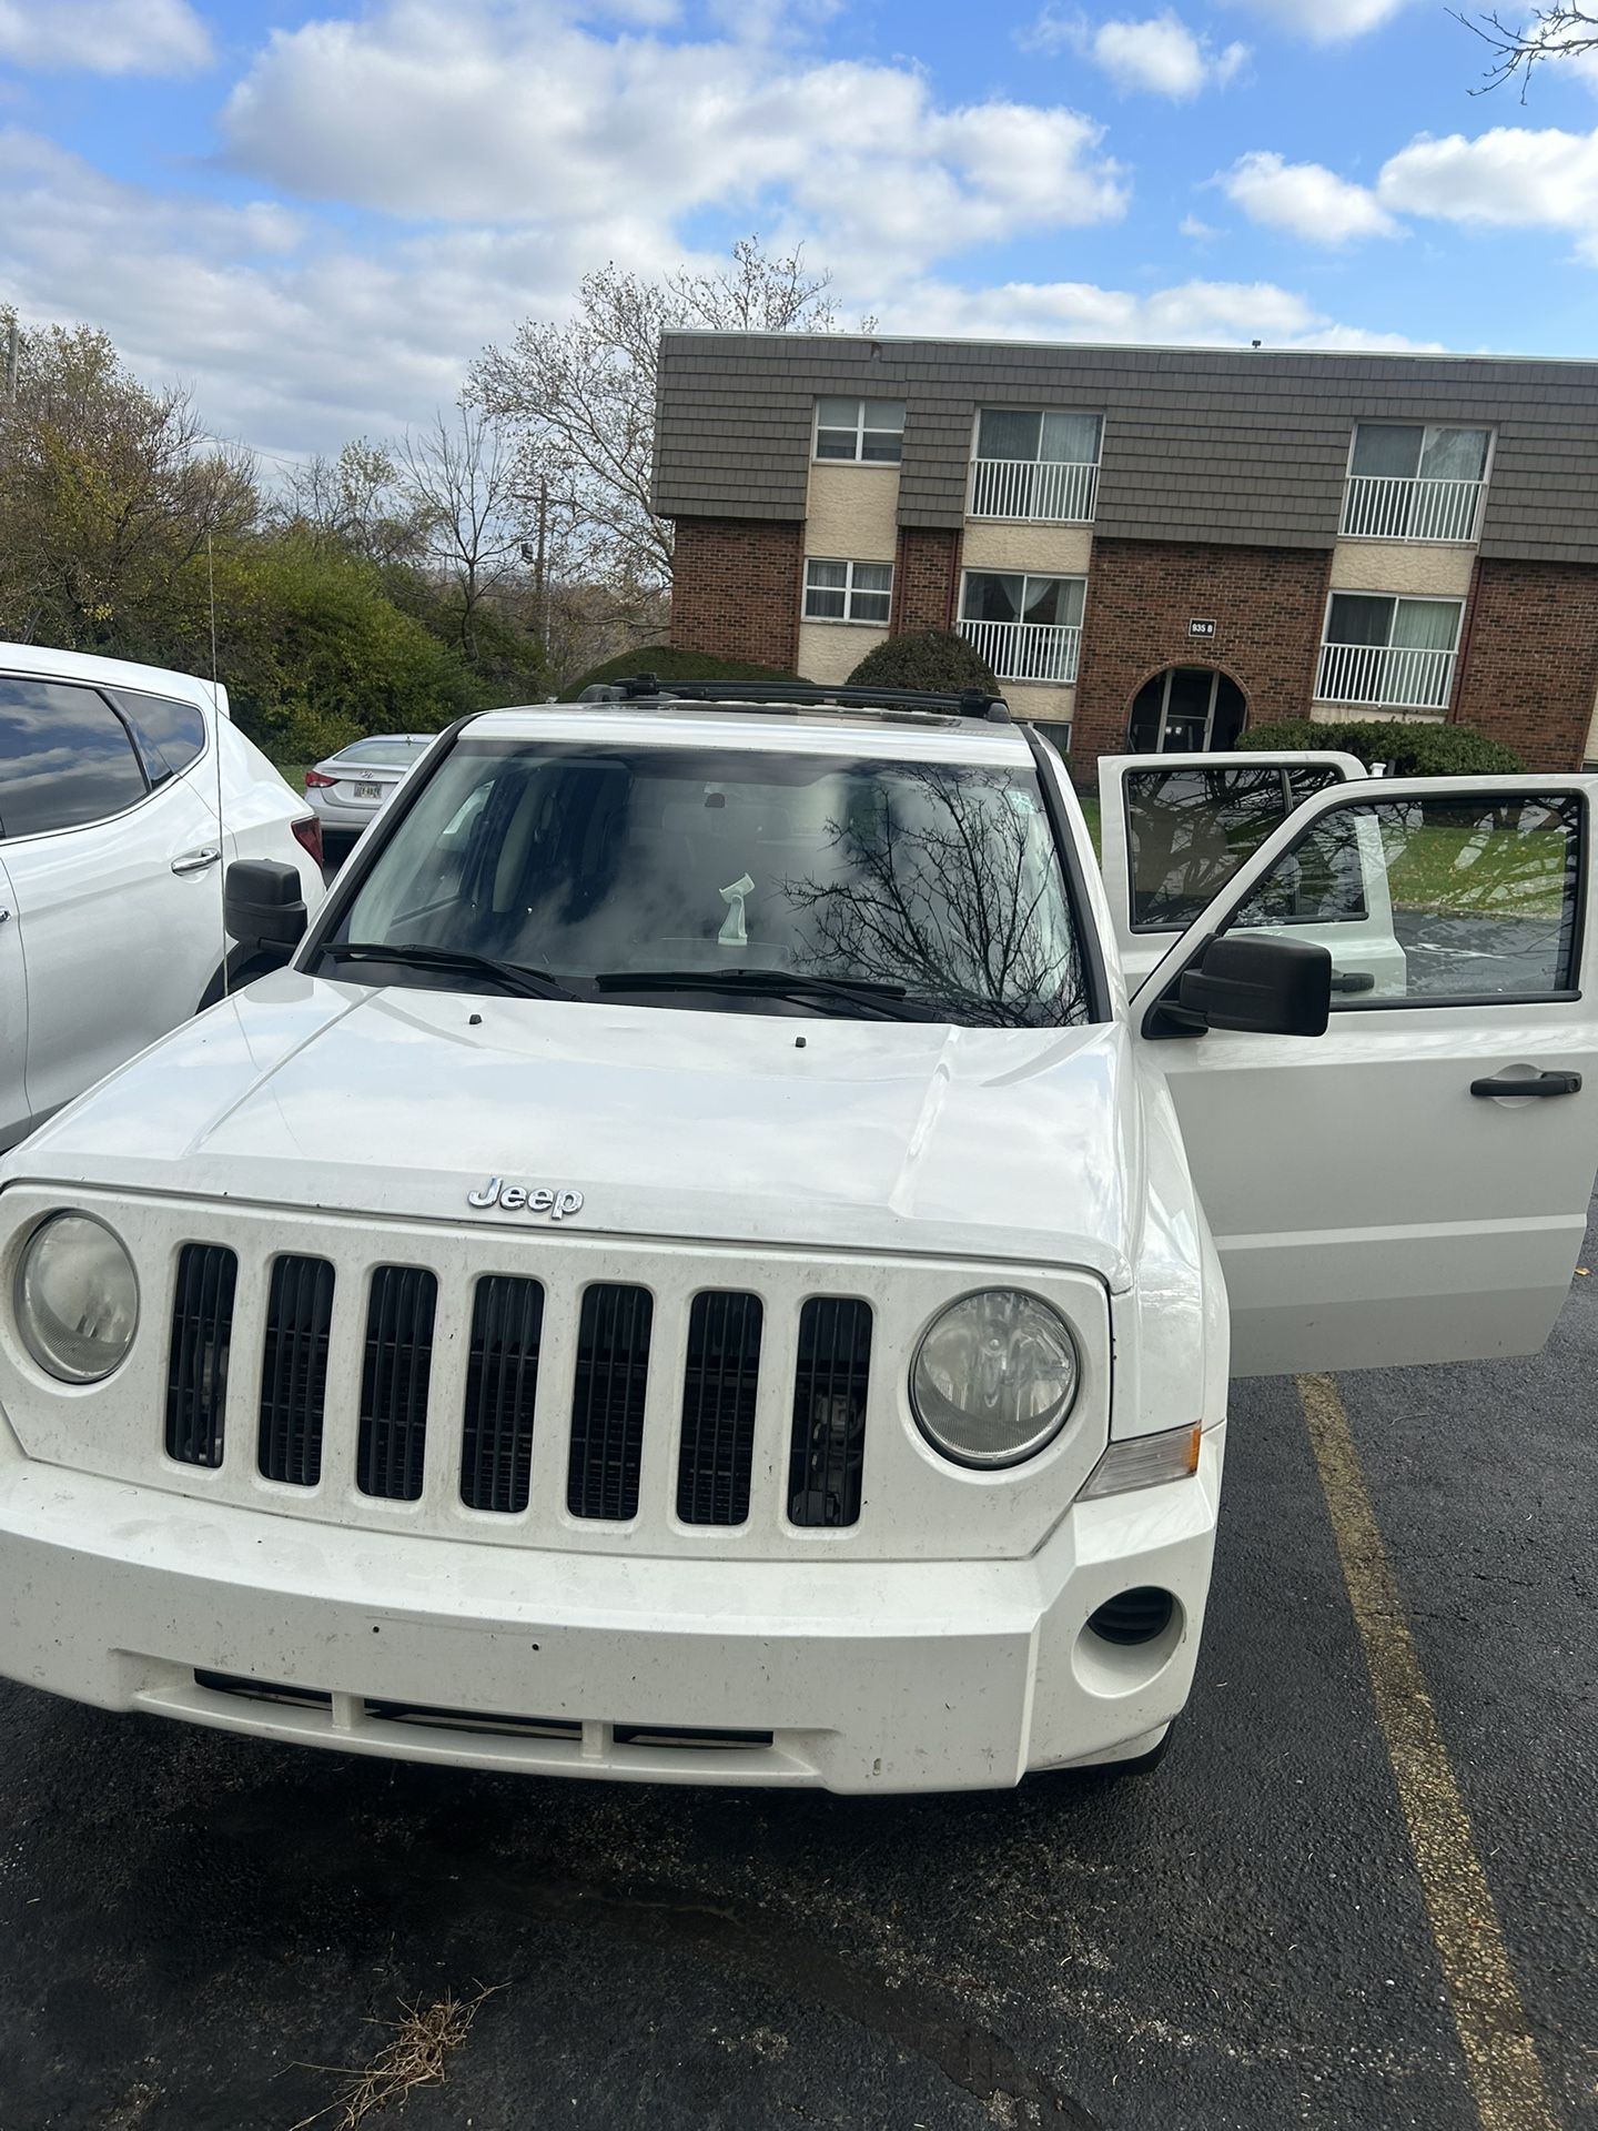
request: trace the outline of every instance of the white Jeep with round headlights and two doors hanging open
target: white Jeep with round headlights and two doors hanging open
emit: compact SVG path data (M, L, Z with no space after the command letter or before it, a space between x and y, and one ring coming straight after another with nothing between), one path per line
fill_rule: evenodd
M1146 1767L1229 1368L1543 1343L1596 780L1276 784L1131 987L1055 750L874 701L490 712L309 929L232 867L290 965L0 1161L0 1671L554 1775Z

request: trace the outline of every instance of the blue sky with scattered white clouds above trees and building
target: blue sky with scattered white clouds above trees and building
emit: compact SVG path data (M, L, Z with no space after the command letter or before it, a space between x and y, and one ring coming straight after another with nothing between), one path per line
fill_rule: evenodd
M279 458L748 230L893 332L1592 356L1598 66L1483 60L1436 0L0 0L0 298Z

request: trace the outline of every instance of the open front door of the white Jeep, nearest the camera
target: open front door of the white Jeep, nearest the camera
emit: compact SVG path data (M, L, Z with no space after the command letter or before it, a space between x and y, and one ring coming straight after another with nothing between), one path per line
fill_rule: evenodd
M1547 1338L1598 1168L1596 799L1598 780L1558 776L1330 786L1136 991L1236 1374ZM1357 982L1334 978L1323 1036L1180 1029L1161 1002L1217 933L1330 946Z

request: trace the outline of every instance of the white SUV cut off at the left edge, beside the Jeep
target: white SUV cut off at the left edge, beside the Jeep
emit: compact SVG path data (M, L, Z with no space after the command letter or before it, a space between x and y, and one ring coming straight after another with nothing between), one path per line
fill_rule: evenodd
M226 859L322 899L315 816L226 712L192 673L0 644L0 1146L219 995Z

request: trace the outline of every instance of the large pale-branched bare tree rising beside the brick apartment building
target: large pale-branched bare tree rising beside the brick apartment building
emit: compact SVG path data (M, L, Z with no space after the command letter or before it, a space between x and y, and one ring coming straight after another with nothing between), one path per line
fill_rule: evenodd
M575 320L528 318L509 347L484 349L469 394L516 441L524 509L548 484L562 575L646 605L671 582L671 526L650 499L661 335L829 332L837 320L827 286L801 249L773 256L746 237L724 273L650 281L603 266L584 279Z

